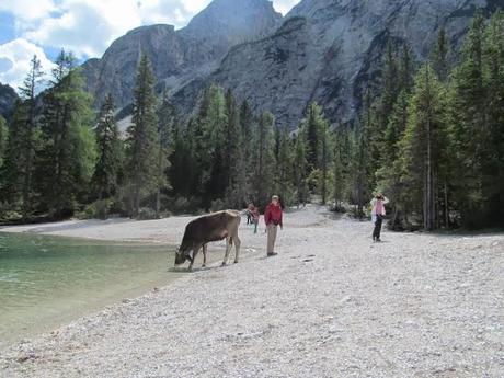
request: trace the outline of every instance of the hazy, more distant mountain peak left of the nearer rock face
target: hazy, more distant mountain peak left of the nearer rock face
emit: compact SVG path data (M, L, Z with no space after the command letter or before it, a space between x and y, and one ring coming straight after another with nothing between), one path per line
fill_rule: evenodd
M171 25L142 26L116 39L101 59L83 65L88 90L96 107L108 92L119 107L128 105L137 64L145 53L158 89L176 91L208 77L231 46L270 34L280 22L282 14L267 0L214 0L180 31Z

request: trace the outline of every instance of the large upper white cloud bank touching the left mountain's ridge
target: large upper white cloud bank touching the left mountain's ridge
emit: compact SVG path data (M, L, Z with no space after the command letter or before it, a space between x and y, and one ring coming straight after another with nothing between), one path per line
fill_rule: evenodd
M131 28L153 23L184 26L209 0L64 0L58 14L25 26L24 37L43 46L65 47L78 57L101 56Z

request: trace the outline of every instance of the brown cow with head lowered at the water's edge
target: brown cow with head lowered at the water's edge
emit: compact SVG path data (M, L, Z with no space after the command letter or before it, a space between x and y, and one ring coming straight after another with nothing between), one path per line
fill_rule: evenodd
M240 238L238 238L238 227L240 226L241 215L237 210L217 211L196 218L185 227L182 244L175 255L175 265L181 265L187 260L191 261L188 270L193 268L196 255L203 248L203 266L206 265L207 243L226 239L226 254L222 265L228 262L229 251L234 243L234 264L238 263L240 255Z

